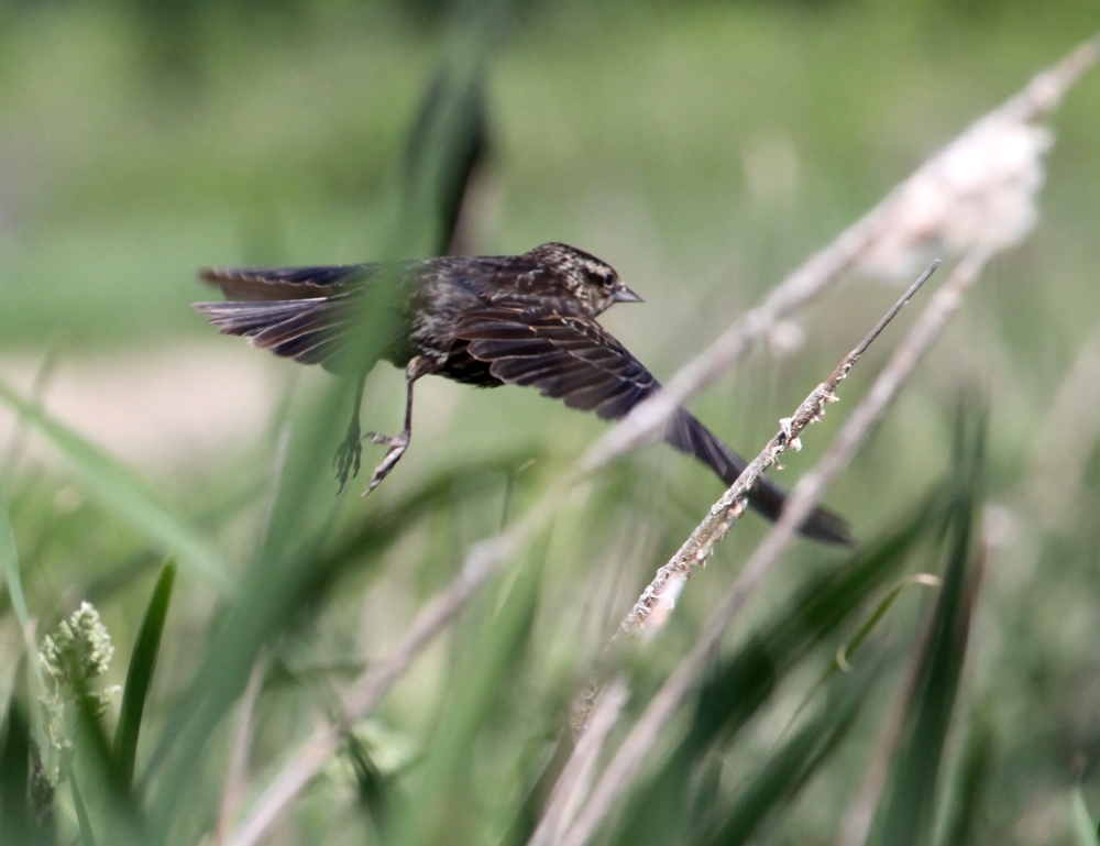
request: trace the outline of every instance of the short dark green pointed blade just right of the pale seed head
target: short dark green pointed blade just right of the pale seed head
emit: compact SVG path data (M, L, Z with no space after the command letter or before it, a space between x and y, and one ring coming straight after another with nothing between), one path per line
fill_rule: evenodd
M114 733L114 766L123 790L133 783L134 761L138 757L138 735L141 730L145 700L153 682L153 671L161 649L161 635L168 616L172 587L176 581L175 563L167 563L153 589L153 596L145 609L138 641L127 671L127 685L122 693L119 727Z

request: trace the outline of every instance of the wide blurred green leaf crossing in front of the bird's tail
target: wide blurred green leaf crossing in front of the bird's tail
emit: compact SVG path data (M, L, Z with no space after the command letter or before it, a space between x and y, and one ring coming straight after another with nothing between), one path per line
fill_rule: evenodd
M485 30L483 36L487 34ZM461 183L462 190L465 189L475 161L469 156L459 160L453 156L471 136L470 92L473 92L473 102L480 103L481 88L462 80L477 77L474 68L481 66L491 47L476 42L475 39L463 43L455 53L453 67L446 72L453 76L457 85L433 86L425 98L421 119L410 133L408 161L415 172L406 169L404 174L405 202L393 221L387 250L381 259L421 254L426 241L436 240L440 226L447 223L440 220L439 212L440 197L448 185L455 189L454 186ZM475 128L481 125L481 120L479 112ZM450 180L448 185L444 179ZM212 649L184 697L185 704L169 719L169 729L154 752L152 769L156 770L167 758L168 750L175 747L176 759L164 776L154 810L156 824L165 829L170 828L185 802L184 791L177 785L196 781L194 773L200 766L202 746L243 689L260 648L276 635L288 634L308 619L348 563L339 550L336 557L326 556L337 509L331 501L327 506L318 505L315 493L321 472L329 466L333 436L339 430L341 411L349 405L349 396L353 399L348 438L359 436L363 378L394 342L392 303L397 282L396 272L385 272L355 295L354 331L349 333L348 349L338 367L344 376L311 403L307 414L292 426L267 531L242 580L240 600L222 620ZM440 477L437 477L428 487L439 483ZM450 485L444 483L444 487L429 494L428 498L449 490ZM407 512L397 518L397 531L415 519L416 514ZM385 526L375 524L367 529L367 546L377 548L375 538L388 542L391 537Z

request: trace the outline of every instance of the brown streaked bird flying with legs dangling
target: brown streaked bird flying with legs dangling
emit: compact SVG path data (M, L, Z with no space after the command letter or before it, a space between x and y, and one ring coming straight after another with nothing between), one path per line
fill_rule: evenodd
M227 334L304 364L340 371L341 351L354 330L355 293L385 265L213 268L200 272L230 301L195 308ZM370 433L389 447L367 485L373 491L408 448L413 385L435 373L479 387L530 385L570 408L617 420L660 388L653 375L596 318L616 303L641 297L609 265L566 244L536 246L522 255L443 256L397 265L393 301L395 340L383 358L405 369L405 428L396 437ZM340 484L360 468L359 406L337 452ZM664 441L710 466L727 485L746 462L685 408L669 419ZM752 488L749 504L770 520L787 494L769 480ZM814 512L802 534L850 543L845 520Z

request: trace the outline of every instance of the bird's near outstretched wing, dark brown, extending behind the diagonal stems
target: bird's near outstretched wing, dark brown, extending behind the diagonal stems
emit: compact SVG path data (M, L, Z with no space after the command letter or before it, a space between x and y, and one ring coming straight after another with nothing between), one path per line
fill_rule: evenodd
M455 331L468 342L466 352L490 364L502 382L537 387L570 408L595 411L617 420L660 389L653 375L594 319L494 305L464 316ZM680 408L663 433L669 446L710 466L726 484L745 470L746 461ZM752 490L749 504L771 520L779 517L787 493L769 480ZM806 537L850 543L843 517L815 510L802 526Z

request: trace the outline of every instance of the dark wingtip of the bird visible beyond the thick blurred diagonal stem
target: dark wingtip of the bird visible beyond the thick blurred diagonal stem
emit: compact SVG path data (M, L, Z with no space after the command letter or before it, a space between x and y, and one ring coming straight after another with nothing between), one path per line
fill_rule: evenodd
M664 440L669 446L702 461L727 485L732 485L748 464L683 408L669 420ZM757 482L749 494L749 506L772 521L779 519L785 502L787 492L768 479ZM825 508L815 509L799 531L807 538L826 543L853 543L847 521Z

